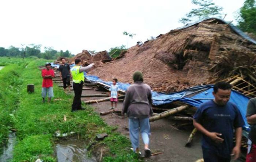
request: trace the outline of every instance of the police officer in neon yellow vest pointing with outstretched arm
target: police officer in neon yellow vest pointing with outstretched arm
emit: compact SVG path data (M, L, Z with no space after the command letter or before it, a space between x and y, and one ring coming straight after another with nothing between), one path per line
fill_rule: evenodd
M84 71L89 70L91 67L94 66L93 64L90 64L86 67L81 67L81 60L75 59L75 66L71 68L71 75L73 79L73 89L75 92L73 104L72 104L72 112L77 110L82 110L81 104L81 95L83 90L83 83L84 83Z

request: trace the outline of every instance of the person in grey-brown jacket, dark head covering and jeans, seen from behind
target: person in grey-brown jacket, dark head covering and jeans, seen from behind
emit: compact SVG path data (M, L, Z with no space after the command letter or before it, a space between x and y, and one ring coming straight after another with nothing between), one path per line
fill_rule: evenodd
M145 157L150 157L149 149L150 124L149 116L153 115L152 94L150 86L143 83L140 71L133 73L134 84L128 87L125 93L122 115L127 113L129 118L129 135L133 151L139 153L139 129L144 142Z

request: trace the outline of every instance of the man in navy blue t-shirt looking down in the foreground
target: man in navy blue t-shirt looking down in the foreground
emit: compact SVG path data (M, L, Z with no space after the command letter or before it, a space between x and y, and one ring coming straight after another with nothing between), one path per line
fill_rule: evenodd
M228 102L231 85L219 82L214 85L214 99L200 105L193 124L203 133L202 150L204 162L230 162L240 154L242 126L244 120L234 103ZM236 145L233 146L233 130Z

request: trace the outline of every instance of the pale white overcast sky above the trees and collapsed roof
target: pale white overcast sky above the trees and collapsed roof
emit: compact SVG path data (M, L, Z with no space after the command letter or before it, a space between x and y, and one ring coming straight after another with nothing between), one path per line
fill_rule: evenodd
M235 20L244 3L213 1L226 21ZM181 27L178 20L195 8L191 0L1 0L0 7L0 47L34 43L72 54L134 46Z

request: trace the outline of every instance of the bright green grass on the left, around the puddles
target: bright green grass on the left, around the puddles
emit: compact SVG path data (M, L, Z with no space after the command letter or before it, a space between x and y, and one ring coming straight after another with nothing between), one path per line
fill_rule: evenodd
M5 58L6 60L7 58ZM0 64L5 62L1 60ZM7 59L8 60L8 59ZM75 132L76 137L88 143L94 143L91 151L107 148L103 161L138 162L141 161L132 151L130 142L103 122L93 111L93 107L84 106L86 111L71 112L72 96L66 95L57 85L54 85L54 99L51 103L42 103L41 71L38 66L46 60L10 60L9 64L0 71L0 144L6 142L10 129L16 130L17 144L14 147L13 162L34 162L37 158L44 162L54 162L53 144L57 139L56 131L61 133ZM7 64L5 64L7 65ZM26 68L25 68L26 67ZM27 93L27 84L35 85L35 92ZM64 115L66 121L64 122ZM95 135L107 133L103 141L95 141Z

